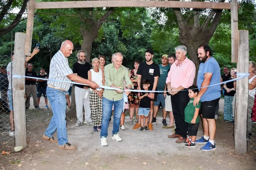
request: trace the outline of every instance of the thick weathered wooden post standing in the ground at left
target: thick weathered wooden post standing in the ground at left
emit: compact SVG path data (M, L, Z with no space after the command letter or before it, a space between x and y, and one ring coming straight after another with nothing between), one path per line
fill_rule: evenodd
M15 33L13 73L25 75L25 33ZM15 146L27 146L25 113L25 78L12 78L12 100L14 107Z

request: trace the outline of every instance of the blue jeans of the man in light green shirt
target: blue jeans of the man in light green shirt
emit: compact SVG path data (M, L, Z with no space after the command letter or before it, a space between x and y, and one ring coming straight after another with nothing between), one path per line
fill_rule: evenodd
M112 135L119 132L120 118L123 112L123 99L118 101L108 100L105 97L102 99L102 123L101 123L101 138L108 136L108 124L112 113L112 107L114 104L114 120Z

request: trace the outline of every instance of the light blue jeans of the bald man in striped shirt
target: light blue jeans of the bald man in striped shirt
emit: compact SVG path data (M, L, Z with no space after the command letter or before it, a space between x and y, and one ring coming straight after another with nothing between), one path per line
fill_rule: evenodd
M57 130L59 145L68 142L68 134L66 131L66 97L65 92L47 87L47 97L52 106L53 117L44 134L52 137Z

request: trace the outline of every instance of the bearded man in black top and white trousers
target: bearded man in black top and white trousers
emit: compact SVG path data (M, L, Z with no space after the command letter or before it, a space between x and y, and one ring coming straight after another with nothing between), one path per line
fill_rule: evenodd
M82 78L88 79L88 71L91 69L91 65L85 61L85 51L79 50L76 54L78 62L73 65L73 73L79 75ZM89 86L75 85L75 101L76 101L76 126L81 126L83 122L83 106L85 110L85 124L92 124L91 120L91 108L90 108L90 89Z

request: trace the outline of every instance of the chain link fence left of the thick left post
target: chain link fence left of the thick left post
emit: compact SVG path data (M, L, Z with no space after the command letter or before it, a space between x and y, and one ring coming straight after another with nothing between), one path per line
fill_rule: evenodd
M10 125L10 106L7 97L9 81L7 65L11 56L0 56L0 148L1 151L11 152L15 146L14 132ZM12 65L11 65L12 67Z

